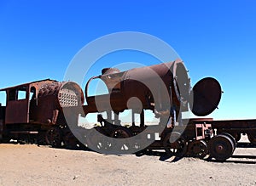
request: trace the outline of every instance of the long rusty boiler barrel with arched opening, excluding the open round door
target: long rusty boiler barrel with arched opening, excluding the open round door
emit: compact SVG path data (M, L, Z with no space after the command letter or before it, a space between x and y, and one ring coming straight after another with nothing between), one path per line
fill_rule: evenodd
M189 77L187 70L183 65L183 61L177 59L176 61L146 66L142 68L135 68L120 72L119 70L102 70L101 76L90 78L85 87L85 99L88 105L84 106L85 115L90 112L101 112L106 110L113 110L115 113L123 110L132 109L140 112L142 109L155 110L161 112L163 110L170 110L165 107L166 100L180 108L181 93L189 94ZM107 73L106 73L107 72ZM108 94L97 96L89 96L88 89L90 82L93 79L99 78L105 82L108 87ZM165 86L161 87L160 82ZM178 87L177 84L182 84ZM168 96L161 93L162 89L166 89ZM170 97L170 95L172 95ZM140 104L130 102L128 108L128 101L131 98L137 98ZM188 99L188 98L186 98ZM99 103L99 104L97 104ZM159 104L161 103L161 105ZM183 110L188 110L188 104L183 104Z

